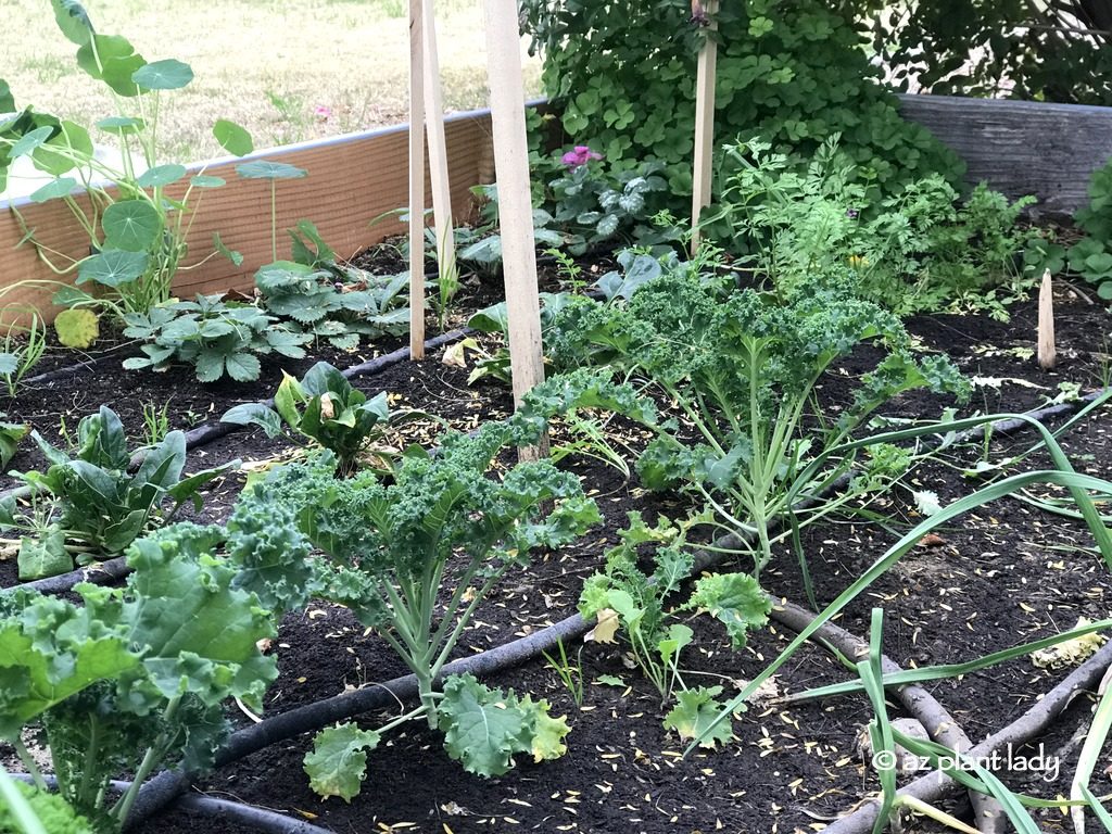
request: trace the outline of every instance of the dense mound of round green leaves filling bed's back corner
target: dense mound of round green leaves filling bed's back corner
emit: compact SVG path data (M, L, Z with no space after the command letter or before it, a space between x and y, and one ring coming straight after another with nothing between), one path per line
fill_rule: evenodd
M855 11L820 0L722 3L711 33L682 0L522 3L568 140L605 156L614 170L663 162L671 193L656 197L677 211L689 208L683 196L691 193L696 61L707 37L721 44L716 147L762 136L776 150L806 156L841 131L885 195L924 173L959 181L957 157L901 119L863 48Z

